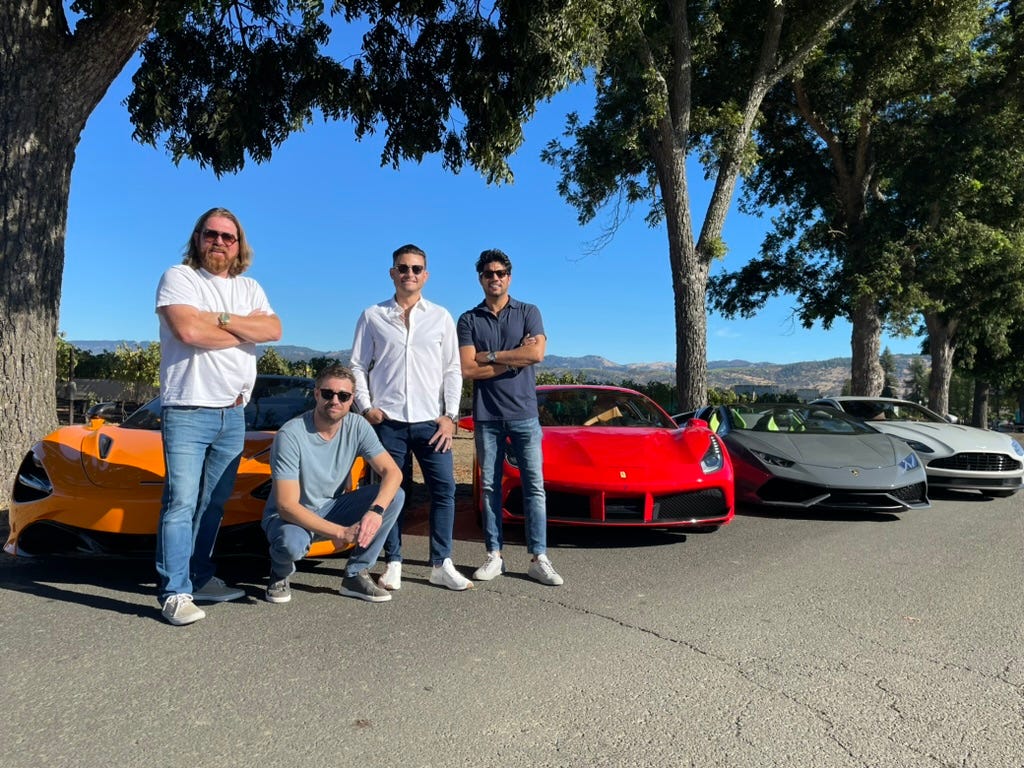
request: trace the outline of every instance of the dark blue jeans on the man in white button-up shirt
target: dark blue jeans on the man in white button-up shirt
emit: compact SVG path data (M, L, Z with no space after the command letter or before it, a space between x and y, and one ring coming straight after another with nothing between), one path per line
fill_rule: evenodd
M440 565L452 556L452 535L455 529L455 462L451 451L434 451L428 440L437 431L432 421L384 421L377 425L377 436L394 463L412 469L412 457L420 463L423 480L430 492L430 564ZM411 475L406 477L411 479ZM401 560L401 525L404 513L384 543L384 559Z

